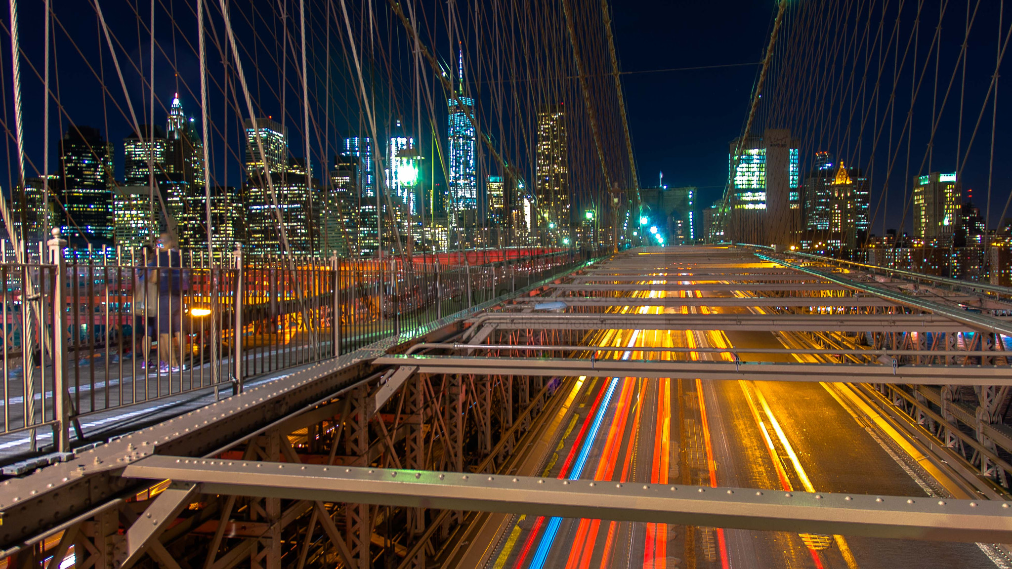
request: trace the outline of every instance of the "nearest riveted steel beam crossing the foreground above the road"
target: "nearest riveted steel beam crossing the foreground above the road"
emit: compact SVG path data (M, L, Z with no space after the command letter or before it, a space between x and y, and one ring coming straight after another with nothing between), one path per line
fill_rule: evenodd
M623 484L163 456L128 466L123 476L199 484L206 494L905 540L1012 542L1012 508L1006 502L989 500Z

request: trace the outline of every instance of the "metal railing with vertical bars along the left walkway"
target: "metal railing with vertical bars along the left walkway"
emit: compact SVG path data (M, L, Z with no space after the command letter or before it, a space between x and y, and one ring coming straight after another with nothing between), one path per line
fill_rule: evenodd
M0 252L0 434L70 450L79 419L319 361L509 294L600 251L345 259ZM45 262L44 262L45 261ZM472 264L475 261L477 264ZM336 322L336 326L335 326ZM169 401L165 405L171 405Z

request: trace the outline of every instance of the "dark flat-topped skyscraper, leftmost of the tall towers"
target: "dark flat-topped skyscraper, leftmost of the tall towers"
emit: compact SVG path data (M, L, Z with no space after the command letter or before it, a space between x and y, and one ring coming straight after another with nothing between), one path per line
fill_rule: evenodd
M112 145L98 129L70 127L60 141L61 230L112 239Z

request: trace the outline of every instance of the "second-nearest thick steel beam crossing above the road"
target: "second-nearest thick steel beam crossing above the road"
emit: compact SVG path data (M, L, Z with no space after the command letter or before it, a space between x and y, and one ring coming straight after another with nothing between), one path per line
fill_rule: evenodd
M592 349L592 348L588 348ZM650 348L629 351L649 352ZM741 353L748 353L742 349ZM872 365L857 363L778 363L750 361L672 361L573 357L472 357L385 355L376 365L416 365L426 374L484 374L540 377L699 378L773 382L857 382L912 385L1012 386L1008 367Z

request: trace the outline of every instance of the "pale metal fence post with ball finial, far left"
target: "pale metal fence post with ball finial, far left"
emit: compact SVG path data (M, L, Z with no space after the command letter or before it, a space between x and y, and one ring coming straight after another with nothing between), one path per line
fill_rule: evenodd
M53 410L57 420L56 445L60 453L70 452L70 394L67 392L67 335L64 330L64 284L67 272L67 261L63 256L63 248L67 240L60 237L60 229L53 229L53 239L46 242L50 248L50 262L56 265L53 279ZM44 332L45 333L45 332ZM43 386L43 397L46 396L46 386ZM27 419L25 419L27 423Z

